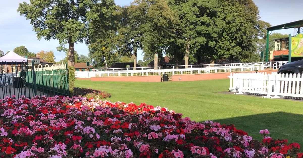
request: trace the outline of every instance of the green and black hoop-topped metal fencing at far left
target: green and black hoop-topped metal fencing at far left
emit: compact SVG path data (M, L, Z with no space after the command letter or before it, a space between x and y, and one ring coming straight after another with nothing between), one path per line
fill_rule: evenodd
M67 65L5 61L0 65L0 98L69 95Z

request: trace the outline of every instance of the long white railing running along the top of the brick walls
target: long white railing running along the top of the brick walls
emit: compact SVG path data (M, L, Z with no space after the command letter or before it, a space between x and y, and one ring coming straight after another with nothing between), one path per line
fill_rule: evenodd
M77 71L75 72L78 78L91 78L91 77L121 77L121 76L162 76L168 74L168 77L172 75L185 75L185 74L203 74L203 73L232 73L232 72L249 72L249 71L261 71L264 69L278 69L282 62L264 62L262 64L248 64L239 65L235 63L229 66L213 66L213 67L191 67L188 69L141 69L141 70L103 70L103 71ZM159 67L158 67L159 68ZM129 68L128 68L129 69Z

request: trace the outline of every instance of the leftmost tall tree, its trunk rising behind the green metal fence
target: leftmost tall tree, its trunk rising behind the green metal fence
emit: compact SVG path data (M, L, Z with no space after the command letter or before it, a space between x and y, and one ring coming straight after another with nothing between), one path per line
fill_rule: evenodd
M30 19L39 40L42 37L59 40L58 50L68 44L68 65L74 66L75 43L83 42L87 34L93 33L89 31L89 21L105 22L111 14L108 5L112 3L113 0L30 0L20 3L17 11ZM102 26L98 29L104 30Z

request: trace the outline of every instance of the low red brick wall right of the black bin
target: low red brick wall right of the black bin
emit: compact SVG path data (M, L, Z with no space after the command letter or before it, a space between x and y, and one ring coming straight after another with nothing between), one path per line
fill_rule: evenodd
M266 72L272 73L278 70L264 70L258 71L259 73ZM255 71L252 71L255 72ZM241 73L252 73L252 72L241 72ZM204 74L191 74L191 75L173 75L172 81L197 81L197 80L209 80L209 79L228 79L230 73L204 73Z

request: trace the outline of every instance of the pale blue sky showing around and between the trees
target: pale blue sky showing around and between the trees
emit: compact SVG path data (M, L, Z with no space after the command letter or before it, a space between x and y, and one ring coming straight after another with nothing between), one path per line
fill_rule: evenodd
M52 50L59 61L65 57L63 52L58 52L57 40L38 40L32 25L25 17L16 11L18 4L24 0L11 0L0 2L0 50L6 53L15 47L24 45L30 52L38 53L40 50ZM28 2L29 0L26 0ZM129 5L132 0L115 0L118 5ZM291 21L303 19L299 9L298 0L277 1L277 0L254 0L259 7L261 19L271 23L273 26ZM293 34L293 29L275 31L283 34ZM75 50L79 54L88 54L87 45L77 43ZM138 51L138 60L142 57L142 51Z

